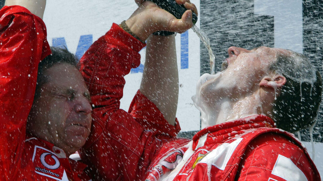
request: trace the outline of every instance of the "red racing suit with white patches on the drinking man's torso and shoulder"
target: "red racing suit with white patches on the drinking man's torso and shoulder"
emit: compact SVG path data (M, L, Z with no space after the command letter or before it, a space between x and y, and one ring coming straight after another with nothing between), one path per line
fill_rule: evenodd
M321 180L301 142L273 125L270 118L253 115L206 127L188 144L163 146L146 181Z

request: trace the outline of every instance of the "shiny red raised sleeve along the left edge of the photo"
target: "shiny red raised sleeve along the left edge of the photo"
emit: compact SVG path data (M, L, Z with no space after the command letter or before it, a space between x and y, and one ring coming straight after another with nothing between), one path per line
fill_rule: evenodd
M17 173L38 63L50 49L44 22L26 8L5 6L0 17L0 178L5 180Z

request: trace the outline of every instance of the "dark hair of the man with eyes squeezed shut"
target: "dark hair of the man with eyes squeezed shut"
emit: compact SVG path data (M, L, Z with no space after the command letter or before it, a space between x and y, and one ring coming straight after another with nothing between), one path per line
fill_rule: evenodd
M50 47L50 50L52 53L45 59L41 60L38 64L37 85L34 99L38 98L41 91L40 87L48 81L46 75L44 74L48 68L51 68L57 63L68 63L78 68L78 58L67 49Z

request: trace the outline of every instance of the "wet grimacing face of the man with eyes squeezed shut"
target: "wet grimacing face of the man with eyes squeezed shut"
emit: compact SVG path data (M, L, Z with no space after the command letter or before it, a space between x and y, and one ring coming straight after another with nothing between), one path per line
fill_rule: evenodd
M47 82L32 106L27 131L71 154L90 133L89 91L78 69L67 63L52 66L45 75Z

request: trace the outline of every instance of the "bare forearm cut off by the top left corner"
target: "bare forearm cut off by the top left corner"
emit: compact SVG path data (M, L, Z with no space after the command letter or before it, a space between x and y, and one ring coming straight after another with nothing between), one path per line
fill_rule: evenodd
M32 14L43 19L46 0L5 0L5 6L20 5L27 8Z

